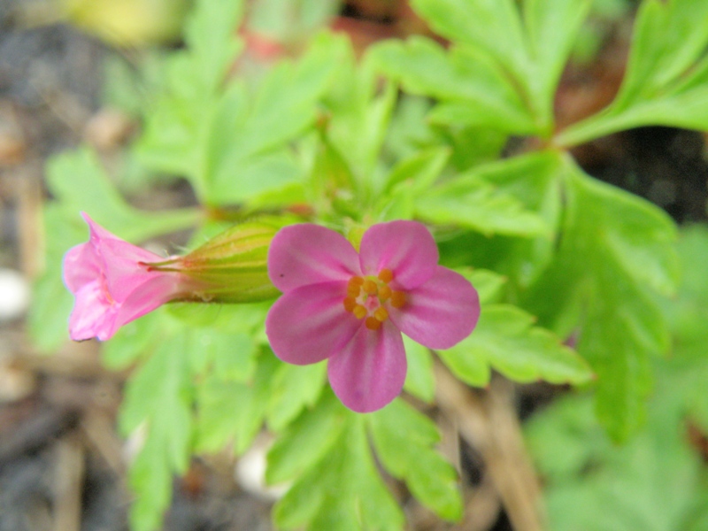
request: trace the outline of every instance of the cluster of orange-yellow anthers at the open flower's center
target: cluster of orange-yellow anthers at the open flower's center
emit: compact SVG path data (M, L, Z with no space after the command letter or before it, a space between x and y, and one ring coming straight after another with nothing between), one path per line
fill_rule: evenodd
M385 304L394 308L403 308L405 293L391 289L393 280L390 269L381 269L378 276L354 276L347 283L347 296L344 298L344 310L353 313L357 319L365 319L369 330L378 330L381 323L389 319Z

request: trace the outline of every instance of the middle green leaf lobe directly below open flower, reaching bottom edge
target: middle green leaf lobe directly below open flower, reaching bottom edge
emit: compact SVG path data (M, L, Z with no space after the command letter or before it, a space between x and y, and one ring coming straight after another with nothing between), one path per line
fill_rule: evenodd
M402 529L403 514L374 465L364 418L342 410L343 427L335 443L275 505L276 525L312 530Z

